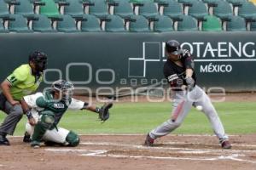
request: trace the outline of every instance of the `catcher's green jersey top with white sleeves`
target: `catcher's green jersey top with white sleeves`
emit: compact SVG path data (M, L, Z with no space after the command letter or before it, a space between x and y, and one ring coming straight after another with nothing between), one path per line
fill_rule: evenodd
M65 102L63 100L54 99L53 92L51 90L46 91L44 94L37 93L24 97L26 104L40 111L52 111L55 114L55 125L60 122L61 117L67 111L71 110L81 110L84 108L84 102L77 99L69 99Z

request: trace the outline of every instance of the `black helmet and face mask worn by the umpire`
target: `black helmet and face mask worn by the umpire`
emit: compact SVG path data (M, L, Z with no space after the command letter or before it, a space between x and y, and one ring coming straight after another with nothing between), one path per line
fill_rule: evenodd
M47 65L47 55L40 51L35 51L28 57L29 61L32 61L35 64L36 70L43 72L46 69Z

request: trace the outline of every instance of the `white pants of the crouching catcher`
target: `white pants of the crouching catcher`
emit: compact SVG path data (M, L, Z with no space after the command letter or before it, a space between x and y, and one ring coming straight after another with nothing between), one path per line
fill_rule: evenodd
M32 116L36 119L36 122L38 122L38 112L32 110ZM34 126L31 126L28 122L26 122L26 132L29 133L32 136L32 133L34 132ZM59 144L66 144L66 138L67 134L70 131L62 128L62 127L57 127L52 129L52 130L46 130L43 136L44 141L51 141Z

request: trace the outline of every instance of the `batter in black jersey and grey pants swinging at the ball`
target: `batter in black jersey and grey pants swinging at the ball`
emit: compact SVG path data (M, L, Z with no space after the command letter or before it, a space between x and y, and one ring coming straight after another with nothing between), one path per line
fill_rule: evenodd
M154 139L171 133L181 125L192 106L200 106L201 111L212 124L212 129L223 149L230 149L231 144L224 132L222 122L214 109L211 99L196 85L194 61L188 50L182 49L176 40L166 42L167 60L164 75L172 88L172 117L148 133L145 145L153 146Z

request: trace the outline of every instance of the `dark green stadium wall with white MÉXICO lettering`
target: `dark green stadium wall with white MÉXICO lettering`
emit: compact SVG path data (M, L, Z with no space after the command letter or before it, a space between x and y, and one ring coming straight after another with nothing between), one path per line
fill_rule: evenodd
M49 55L44 87L58 78L94 90L148 86L164 78L163 42L169 39L193 52L201 86L256 90L254 32L1 34L0 79L41 50Z

